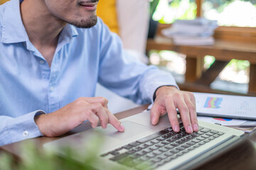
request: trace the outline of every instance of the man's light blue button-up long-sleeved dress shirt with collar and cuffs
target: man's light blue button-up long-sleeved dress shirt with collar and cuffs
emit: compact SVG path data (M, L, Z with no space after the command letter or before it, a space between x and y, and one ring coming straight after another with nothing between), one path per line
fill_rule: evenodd
M128 55L100 19L92 28L65 26L49 67L28 39L19 6L0 6L0 145L41 136L35 115L93 97L97 82L136 103L153 102L159 86L176 86L171 74Z

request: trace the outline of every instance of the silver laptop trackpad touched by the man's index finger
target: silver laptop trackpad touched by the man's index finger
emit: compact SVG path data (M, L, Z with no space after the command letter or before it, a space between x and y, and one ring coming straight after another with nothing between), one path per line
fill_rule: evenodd
M125 128L124 132L118 132L117 129L114 128L112 125L106 129L101 129L98 131L104 133L107 136L114 137L118 140L127 140L130 137L134 137L135 135L139 135L140 133L146 132L150 129L145 125L140 125L138 123L133 123L130 121L124 121L122 122L122 125L124 125Z

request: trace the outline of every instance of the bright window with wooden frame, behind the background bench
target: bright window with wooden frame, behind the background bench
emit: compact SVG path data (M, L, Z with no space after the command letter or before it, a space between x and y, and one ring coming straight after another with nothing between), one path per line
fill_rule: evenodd
M174 23L177 19L196 17L218 21L220 27L215 30L215 38L255 43L256 0L159 0L153 15L155 21L163 24ZM252 40L251 37L254 39ZM186 70L186 56L168 51L152 51L149 54L152 64L173 72L174 76L178 75L180 82L183 81L180 77ZM205 69L208 69L213 62L215 62L213 56L206 56ZM222 89L224 86L222 90L247 93L249 70L250 62L231 60L211 87Z

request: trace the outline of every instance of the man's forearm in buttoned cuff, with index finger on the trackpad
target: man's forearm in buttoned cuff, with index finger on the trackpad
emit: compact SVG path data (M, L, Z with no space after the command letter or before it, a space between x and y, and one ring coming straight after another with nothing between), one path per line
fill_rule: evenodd
M91 123L92 128L100 122L102 128L107 128L107 123L110 123L120 132L124 131L120 121L108 110L107 98L78 98L53 113L34 111L18 118L1 115L0 146L42 135L57 137L85 120Z

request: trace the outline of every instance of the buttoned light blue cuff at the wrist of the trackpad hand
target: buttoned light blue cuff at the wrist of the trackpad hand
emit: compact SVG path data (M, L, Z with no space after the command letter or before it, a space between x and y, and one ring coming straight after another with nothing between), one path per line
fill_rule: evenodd
M7 129L9 131L9 139L11 142L18 142L28 138L43 136L35 123L36 115L46 114L43 111L33 111L18 118L8 120Z

